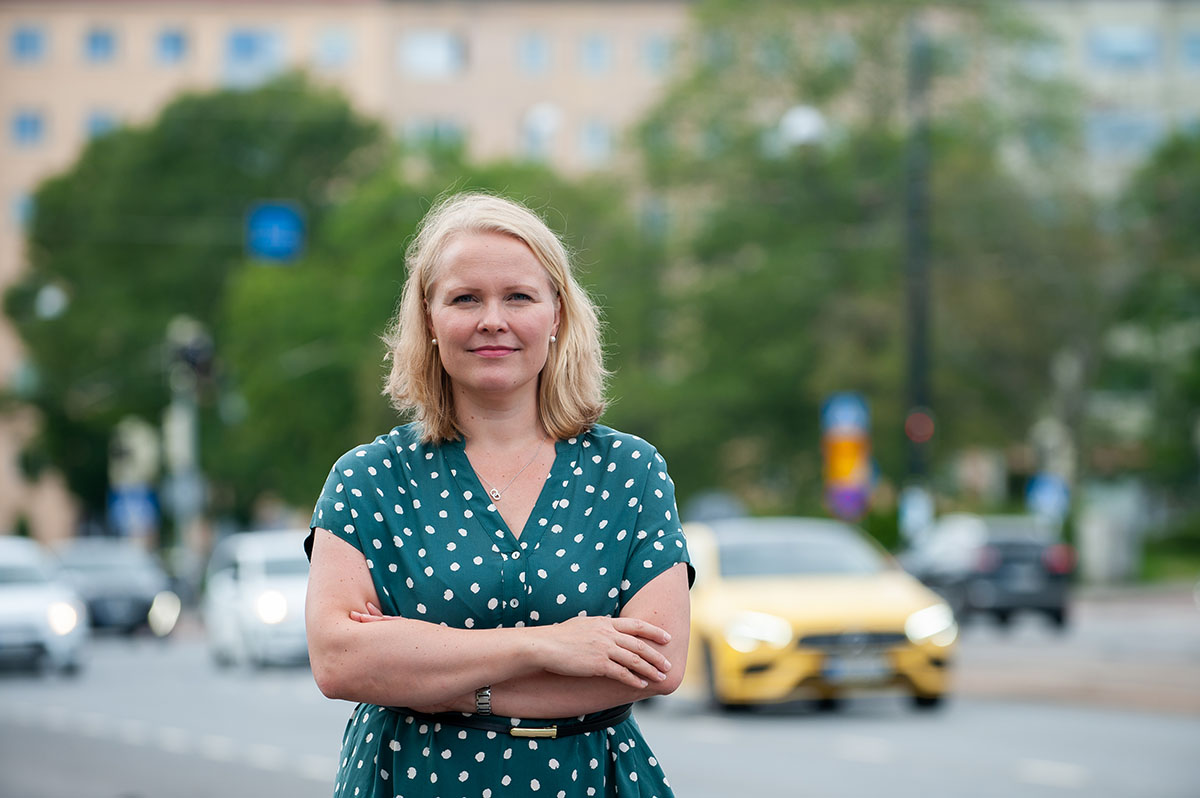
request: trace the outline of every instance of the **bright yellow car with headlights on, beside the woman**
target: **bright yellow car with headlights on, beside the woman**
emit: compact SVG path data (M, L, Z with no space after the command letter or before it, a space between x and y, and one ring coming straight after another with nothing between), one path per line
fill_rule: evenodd
M732 708L900 689L937 707L958 626L950 607L857 528L824 518L684 526L696 566L690 679Z

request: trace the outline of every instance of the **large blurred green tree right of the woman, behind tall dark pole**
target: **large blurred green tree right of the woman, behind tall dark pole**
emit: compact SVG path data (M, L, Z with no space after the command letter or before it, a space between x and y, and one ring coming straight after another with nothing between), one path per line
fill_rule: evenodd
M673 228L674 318L649 431L680 494L817 506L817 410L870 402L899 476L905 394L905 146L928 102L937 452L1025 437L1050 360L1086 340L1096 226L1069 180L1068 88L1021 54L1045 40L1008 4L697 6L683 68L638 131ZM907 96L906 24L931 48ZM984 96L983 86L988 86ZM1076 210L1078 209L1078 210Z

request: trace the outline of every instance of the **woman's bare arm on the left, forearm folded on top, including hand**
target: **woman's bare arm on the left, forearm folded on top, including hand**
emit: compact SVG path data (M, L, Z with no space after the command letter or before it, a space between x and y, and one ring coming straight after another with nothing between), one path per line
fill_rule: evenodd
M410 618L360 623L352 617L368 604L378 604L378 596L362 553L317 529L305 622L313 677L331 698L426 708L461 701L484 684L545 671L642 689L667 680L671 670L659 652L667 646L667 632L640 618L474 630Z

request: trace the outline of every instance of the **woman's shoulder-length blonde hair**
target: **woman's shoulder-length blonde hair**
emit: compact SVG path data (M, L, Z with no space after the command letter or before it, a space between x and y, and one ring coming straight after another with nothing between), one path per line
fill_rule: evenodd
M443 197L421 220L404 256L408 277L384 343L391 358L384 395L396 410L421 424L427 443L463 436L454 407L450 376L442 367L426 325L426 301L450 242L460 235L499 233L522 241L546 269L560 301L558 341L551 344L539 376L538 413L554 438L581 434L605 408L608 372L600 346L596 307L571 272L566 247L524 205L492 194L466 192Z

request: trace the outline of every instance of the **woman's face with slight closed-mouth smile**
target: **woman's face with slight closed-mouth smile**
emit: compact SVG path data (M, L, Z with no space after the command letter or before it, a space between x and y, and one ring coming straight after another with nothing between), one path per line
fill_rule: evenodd
M558 332L558 293L518 239L461 235L446 247L426 300L430 334L455 390L536 398L550 336Z

